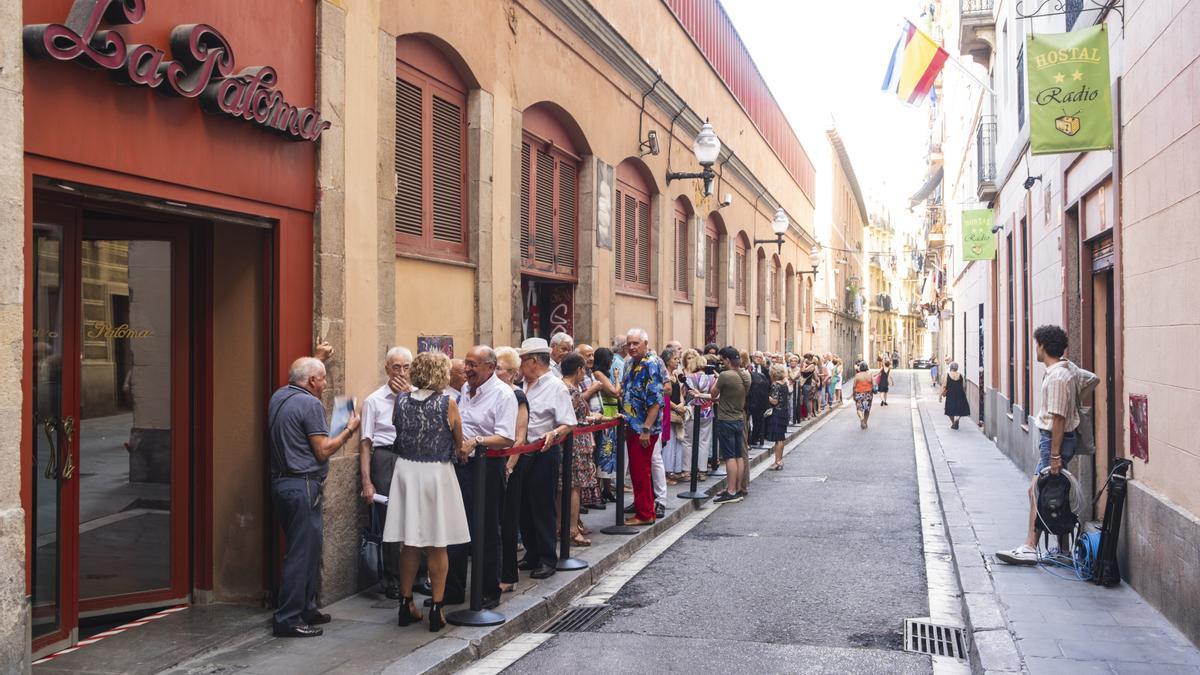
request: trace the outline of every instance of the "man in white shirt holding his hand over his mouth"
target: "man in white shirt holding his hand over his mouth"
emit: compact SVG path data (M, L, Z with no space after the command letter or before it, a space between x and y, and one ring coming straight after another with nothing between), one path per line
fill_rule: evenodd
M404 347L392 347L384 357L383 372L388 382L371 393L362 402L362 440L359 442L359 472L362 477L362 498L367 508L374 510L376 528L383 532L388 504L374 503L377 494L386 496L391 491L391 476L396 466L392 444L396 428L391 424L391 412L396 407L396 393L412 390L408 370L413 365L413 352ZM400 544L383 545L384 569L379 585L389 598L400 598Z

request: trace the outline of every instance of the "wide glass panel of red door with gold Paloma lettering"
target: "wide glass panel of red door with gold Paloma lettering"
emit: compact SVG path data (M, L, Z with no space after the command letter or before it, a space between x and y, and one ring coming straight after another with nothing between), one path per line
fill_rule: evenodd
M82 601L172 586L172 245L82 244Z

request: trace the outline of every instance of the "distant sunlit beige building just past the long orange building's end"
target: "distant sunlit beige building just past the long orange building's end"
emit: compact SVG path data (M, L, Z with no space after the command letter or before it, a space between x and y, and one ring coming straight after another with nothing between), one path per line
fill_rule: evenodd
M829 221L822 223L822 259L817 271L816 345L853 366L863 354L863 241L866 203L854 166L836 129L829 139ZM803 271L802 271L803 274ZM848 372L848 371L847 371Z

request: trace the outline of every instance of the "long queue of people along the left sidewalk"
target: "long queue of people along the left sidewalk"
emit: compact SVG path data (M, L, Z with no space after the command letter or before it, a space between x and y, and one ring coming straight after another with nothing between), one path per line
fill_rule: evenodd
M788 425L841 399L835 354L685 350L678 342L656 353L638 328L611 348L593 348L559 333L520 348L476 345L463 359L394 347L384 357L383 384L331 436L320 401L331 353L322 344L316 357L298 359L269 405L271 495L287 540L274 617L278 637L320 635L330 620L317 607L322 491L329 458L359 431L361 497L384 542L380 586L400 601L400 626L427 615L436 632L446 623L444 607L466 601L475 537L484 556L470 565L482 566L487 609L516 590L521 571L533 579L556 573L564 490L570 545L590 545L581 515L616 504L623 448L634 500L616 506L625 508L626 525L649 526L665 515L667 486L689 479L694 461L698 480L724 464L728 479L716 503L744 500L748 448L773 444L772 468L781 470ZM576 432L618 417L624 425ZM574 453L564 485L568 437ZM538 447L487 456L488 449L529 443ZM475 531L468 514L480 462L484 519ZM424 608L415 591L430 596Z

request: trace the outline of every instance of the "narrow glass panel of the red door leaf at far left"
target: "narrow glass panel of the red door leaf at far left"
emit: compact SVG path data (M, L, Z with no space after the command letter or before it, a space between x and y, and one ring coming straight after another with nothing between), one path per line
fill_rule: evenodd
M34 226L32 279L32 633L41 638L59 632L62 616L62 473L70 458L62 401L62 358L66 331L64 317L64 228Z

